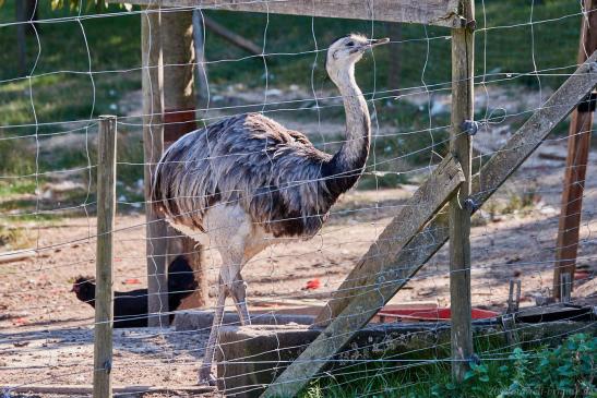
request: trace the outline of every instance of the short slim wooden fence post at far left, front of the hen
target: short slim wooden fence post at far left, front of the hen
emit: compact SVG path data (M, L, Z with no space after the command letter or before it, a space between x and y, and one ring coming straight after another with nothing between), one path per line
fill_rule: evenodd
M112 396L112 260L116 214L116 117L99 117L97 144L97 256L93 396Z

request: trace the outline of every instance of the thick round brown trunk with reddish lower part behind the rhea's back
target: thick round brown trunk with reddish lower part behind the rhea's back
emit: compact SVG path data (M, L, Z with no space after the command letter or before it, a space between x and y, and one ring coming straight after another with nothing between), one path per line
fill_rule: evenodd
M196 129L196 97L194 95L193 11L167 12L162 15L164 57L164 145L168 147L182 135ZM202 248L188 237L175 242L180 232L170 229L169 258L184 253L198 289L184 299L180 309L201 307L207 304L207 273L202 261ZM171 244L170 244L171 243ZM170 309L171 311L174 309Z

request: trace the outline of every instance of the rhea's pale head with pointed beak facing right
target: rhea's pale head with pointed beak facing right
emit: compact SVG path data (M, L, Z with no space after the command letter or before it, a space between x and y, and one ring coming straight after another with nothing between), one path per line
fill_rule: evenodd
M389 38L368 39L362 35L351 34L341 37L327 49L325 69L327 74L338 84L339 80L349 77L355 71L355 63L360 61L365 51L389 43Z

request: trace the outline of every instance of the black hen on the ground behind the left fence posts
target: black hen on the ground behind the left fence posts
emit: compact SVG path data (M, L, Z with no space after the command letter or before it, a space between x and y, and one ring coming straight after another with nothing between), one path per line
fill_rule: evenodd
M176 257L168 266L168 310L176 311L196 287L193 269L187 258L181 255ZM95 307L93 277L77 277L71 291L79 300ZM172 322L175 314L169 316ZM114 327L147 327L147 289L114 292Z

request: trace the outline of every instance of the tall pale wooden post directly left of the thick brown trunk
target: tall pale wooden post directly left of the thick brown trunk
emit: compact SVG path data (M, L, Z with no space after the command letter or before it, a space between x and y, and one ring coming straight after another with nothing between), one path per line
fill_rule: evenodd
M166 273L166 222L153 210L152 180L164 150L164 63L162 59L162 13L147 8L141 14L141 58L143 62L143 149L145 159L145 218L147 253L148 326L168 326ZM155 316L152 316L157 314Z

